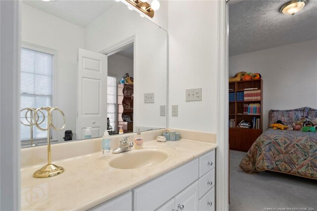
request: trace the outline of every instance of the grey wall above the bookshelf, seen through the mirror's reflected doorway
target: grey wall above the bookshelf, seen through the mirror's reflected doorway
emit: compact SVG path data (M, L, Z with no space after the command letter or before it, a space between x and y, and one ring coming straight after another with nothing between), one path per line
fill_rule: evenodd
M133 59L115 53L108 56L108 75L116 77L117 84L121 78L129 73L133 77Z

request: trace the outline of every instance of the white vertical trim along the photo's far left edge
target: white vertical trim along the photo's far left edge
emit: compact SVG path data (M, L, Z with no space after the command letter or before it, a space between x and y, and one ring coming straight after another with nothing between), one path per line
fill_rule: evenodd
M20 210L20 1L0 0L0 210Z

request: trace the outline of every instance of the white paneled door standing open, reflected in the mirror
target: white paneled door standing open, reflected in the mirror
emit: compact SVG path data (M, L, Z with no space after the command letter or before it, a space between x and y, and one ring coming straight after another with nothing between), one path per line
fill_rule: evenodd
M100 137L107 125L107 56L78 49L77 138L87 127L92 138Z

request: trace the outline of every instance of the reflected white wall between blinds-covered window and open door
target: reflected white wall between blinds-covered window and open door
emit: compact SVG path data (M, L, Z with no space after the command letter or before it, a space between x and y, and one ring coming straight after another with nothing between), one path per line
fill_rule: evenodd
M57 135L58 142L63 142L65 130L76 131L77 54L78 48L84 48L84 29L24 3L21 7L22 42L57 50L57 102L53 106L66 116L66 127Z

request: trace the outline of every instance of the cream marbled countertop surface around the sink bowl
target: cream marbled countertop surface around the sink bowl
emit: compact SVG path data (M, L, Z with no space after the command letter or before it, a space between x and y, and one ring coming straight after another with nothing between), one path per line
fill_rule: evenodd
M184 139L144 142L144 149L151 148L166 152L168 158L145 168L117 169L109 166L108 162L130 152L111 154L109 158L102 158L100 151L53 161L54 164L64 167L65 171L51 178L32 176L43 164L24 166L21 168L21 209L87 210L198 158L215 149L216 145Z

